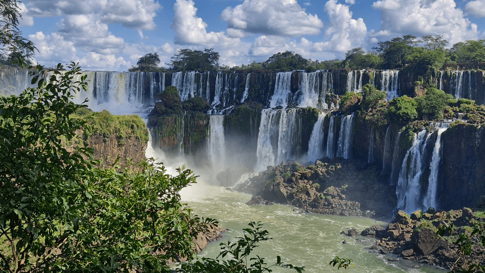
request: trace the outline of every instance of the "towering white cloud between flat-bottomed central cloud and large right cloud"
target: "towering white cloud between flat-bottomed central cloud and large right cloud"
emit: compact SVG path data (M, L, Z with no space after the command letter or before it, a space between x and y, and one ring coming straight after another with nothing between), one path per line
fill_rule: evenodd
M362 45L367 34L367 27L362 18L353 19L349 6L329 0L324 5L328 14L328 25L324 41L313 45L313 51L345 52Z

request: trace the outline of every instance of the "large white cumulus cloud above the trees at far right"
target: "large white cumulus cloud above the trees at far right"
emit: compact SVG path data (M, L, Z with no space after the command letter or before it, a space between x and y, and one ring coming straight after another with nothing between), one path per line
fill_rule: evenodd
M477 8L482 0L474 0L466 9ZM371 32L375 37L382 32L392 35L414 34L443 35L450 44L477 38L477 25L464 17L461 9L456 8L454 0L379 0L372 7L381 11L381 27ZM485 9L482 9L485 15Z

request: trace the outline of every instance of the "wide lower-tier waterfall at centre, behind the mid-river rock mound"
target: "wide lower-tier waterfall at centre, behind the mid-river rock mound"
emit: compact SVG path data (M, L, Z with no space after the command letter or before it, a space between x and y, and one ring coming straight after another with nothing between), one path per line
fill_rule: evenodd
M259 125L257 170L275 166L287 159L295 159L301 145L301 126L298 109L261 111Z

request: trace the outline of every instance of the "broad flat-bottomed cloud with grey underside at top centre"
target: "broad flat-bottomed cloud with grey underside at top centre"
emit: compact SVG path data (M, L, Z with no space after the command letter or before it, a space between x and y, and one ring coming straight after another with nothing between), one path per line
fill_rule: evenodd
M322 20L307 14L296 0L244 0L227 7L220 18L227 22L227 34L232 37L316 35L323 28Z

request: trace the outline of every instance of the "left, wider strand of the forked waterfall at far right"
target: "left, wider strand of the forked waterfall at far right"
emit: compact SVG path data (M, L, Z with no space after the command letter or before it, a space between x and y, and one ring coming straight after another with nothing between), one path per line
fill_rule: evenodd
M423 129L417 135L415 134L413 144L404 156L401 171L399 172L396 189L396 195L398 197L397 205L407 213L422 208L420 204L420 178L423 171L422 155L431 135L428 134L426 136L426 129Z

